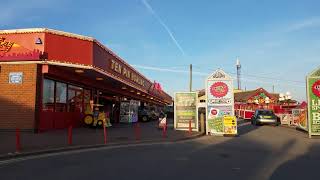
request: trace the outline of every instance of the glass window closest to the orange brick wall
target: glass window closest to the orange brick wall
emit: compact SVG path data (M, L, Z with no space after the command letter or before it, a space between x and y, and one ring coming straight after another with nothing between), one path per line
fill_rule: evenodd
M54 111L54 81L49 79L43 81L42 110Z

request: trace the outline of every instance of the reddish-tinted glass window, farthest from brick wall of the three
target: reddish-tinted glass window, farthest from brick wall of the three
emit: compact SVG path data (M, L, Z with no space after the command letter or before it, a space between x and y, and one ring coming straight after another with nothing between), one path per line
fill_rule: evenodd
M82 112L83 89L68 86L68 112Z

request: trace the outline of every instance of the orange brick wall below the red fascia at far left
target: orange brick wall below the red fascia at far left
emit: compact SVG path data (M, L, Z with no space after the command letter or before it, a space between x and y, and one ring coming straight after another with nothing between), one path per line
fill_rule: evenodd
M37 65L0 66L0 129L34 129ZM10 84L10 72L22 72L22 84Z

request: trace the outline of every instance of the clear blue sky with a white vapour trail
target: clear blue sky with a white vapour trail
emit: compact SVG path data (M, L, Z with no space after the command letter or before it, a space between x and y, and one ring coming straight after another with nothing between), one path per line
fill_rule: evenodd
M48 27L93 36L171 95L204 88L242 64L242 87L305 99L305 76L320 65L320 1L4 0L0 29Z

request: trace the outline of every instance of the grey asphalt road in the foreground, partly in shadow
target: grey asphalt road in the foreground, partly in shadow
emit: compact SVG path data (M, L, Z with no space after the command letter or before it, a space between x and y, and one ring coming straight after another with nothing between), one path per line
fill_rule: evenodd
M239 132L239 137L201 137L0 163L0 179L320 178L320 139L283 127L245 125Z

